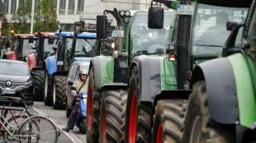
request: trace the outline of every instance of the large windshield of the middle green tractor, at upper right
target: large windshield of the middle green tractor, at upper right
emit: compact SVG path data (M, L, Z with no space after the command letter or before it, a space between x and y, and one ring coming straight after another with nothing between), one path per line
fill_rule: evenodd
M247 12L248 8L198 4L197 16L193 26L192 54L221 55L225 40L230 35L230 31L226 30L226 22L244 23ZM242 30L239 34L242 34Z

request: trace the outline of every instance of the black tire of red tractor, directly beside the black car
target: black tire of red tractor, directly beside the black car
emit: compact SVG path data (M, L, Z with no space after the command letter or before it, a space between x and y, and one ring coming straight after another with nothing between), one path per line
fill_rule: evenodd
M45 71L43 69L33 70L32 76L34 82L33 99L36 101L43 101L45 88Z

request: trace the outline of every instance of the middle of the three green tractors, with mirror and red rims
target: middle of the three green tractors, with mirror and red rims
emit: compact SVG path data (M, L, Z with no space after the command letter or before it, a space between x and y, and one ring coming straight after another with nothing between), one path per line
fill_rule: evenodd
M130 63L127 143L182 142L192 70L200 62L221 56L230 35L225 23L244 21L248 11L244 7L249 7L243 2L154 2L177 9L177 16L168 31L172 36L166 40L167 50L136 56ZM149 8L149 27L163 27L163 11L162 7Z

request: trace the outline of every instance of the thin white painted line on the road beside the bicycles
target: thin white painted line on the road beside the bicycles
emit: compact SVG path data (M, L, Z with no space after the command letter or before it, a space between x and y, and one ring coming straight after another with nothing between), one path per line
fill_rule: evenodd
M40 108L35 108L33 107L33 109L36 111L36 113L39 113L41 116L46 116L46 117L49 117L47 116L47 114L41 110ZM59 131L61 131L61 133L64 133L65 136L67 136L69 138L69 140L71 140L73 143L83 143L83 141L80 139L79 136L76 136L73 132L66 132L66 131L62 131L62 128L64 128L65 126L64 125L58 125L56 122L56 120L54 118L50 118L54 123L55 123L55 126L59 128ZM60 123L60 122L59 122ZM74 138L78 138L78 140L74 140Z

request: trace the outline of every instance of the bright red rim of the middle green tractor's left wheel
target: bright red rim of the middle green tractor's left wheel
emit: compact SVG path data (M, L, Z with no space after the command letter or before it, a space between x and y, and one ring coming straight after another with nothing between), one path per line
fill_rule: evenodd
M132 93L132 99L130 104L129 143L135 143L136 131L137 131L137 94L134 91Z

